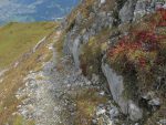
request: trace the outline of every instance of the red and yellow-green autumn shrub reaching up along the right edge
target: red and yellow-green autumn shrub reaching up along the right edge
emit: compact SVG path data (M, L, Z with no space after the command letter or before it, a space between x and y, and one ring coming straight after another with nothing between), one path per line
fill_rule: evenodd
M163 42L166 35L158 33L157 29L166 27L166 10L158 9L156 14L157 20L147 23L149 24L148 30L135 30L108 50L107 56L112 64L123 60L120 64L129 62L135 65L135 69L149 71L155 64L158 64L157 60L165 59L165 55L160 56L159 53L160 50L166 51L166 43Z

